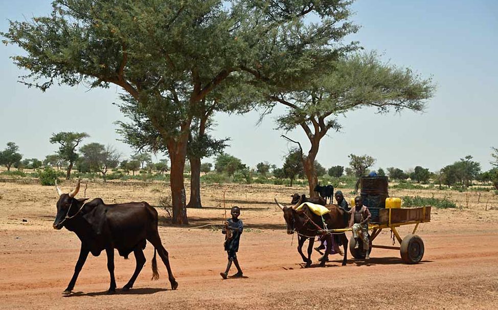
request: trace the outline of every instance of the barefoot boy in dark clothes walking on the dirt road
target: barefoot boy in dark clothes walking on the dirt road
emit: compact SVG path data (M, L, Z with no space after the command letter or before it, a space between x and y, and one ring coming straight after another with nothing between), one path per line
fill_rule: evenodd
M230 267L232 267L232 262L235 264L235 267L237 268L237 273L234 274L233 277L242 277L243 275L242 269L240 269L239 266L239 261L237 260L237 251L239 250L240 235L242 234L242 230L244 229L242 221L239 220L240 208L238 206L232 207L230 214L232 215L232 218L227 220L225 228L221 230L222 234L229 233L228 236L230 236L230 232L228 232L227 230L230 230L232 233L232 236L230 238L225 239L225 251L227 251L228 254L228 265L227 265L227 270L225 270L225 272L220 272L220 275L223 279L226 279L228 277L228 272L230 271Z

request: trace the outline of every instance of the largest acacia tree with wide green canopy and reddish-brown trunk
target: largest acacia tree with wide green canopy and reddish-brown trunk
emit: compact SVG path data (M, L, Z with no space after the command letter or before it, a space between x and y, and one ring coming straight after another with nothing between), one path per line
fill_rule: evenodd
M55 82L124 91L161 134L171 160L173 222L188 223L183 170L199 102L231 77L299 85L335 57L351 29L349 0L55 0L48 17L11 22L2 33L25 56L28 86ZM318 20L306 23L314 15ZM338 49L347 49L339 47ZM258 83L247 86L259 87Z

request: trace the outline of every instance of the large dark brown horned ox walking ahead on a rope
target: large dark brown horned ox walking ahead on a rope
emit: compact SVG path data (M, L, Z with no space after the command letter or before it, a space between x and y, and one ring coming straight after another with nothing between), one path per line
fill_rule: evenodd
M147 202L104 204L102 199L96 198L85 203L88 198L74 198L79 188L80 180L72 192L64 194L56 183L59 200L57 201L57 216L53 226L55 229L65 227L67 230L73 231L81 241L80 255L73 278L62 294L70 294L74 289L76 279L85 264L88 253L99 256L102 250L105 250L107 254L107 269L110 273L110 287L107 293L115 293L114 249L118 249L119 255L125 259L131 252L135 255L137 263L135 272L123 287L124 291L131 289L146 261L143 251L146 240L154 246L152 279L159 278L155 258L157 251L168 269L171 289L176 290L178 283L171 272L168 252L163 247L157 232L157 211Z

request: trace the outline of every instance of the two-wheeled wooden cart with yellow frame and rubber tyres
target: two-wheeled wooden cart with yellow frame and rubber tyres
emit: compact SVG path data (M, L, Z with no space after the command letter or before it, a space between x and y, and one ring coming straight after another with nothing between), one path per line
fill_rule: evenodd
M421 208L400 208L400 209L381 209L379 211L379 221L378 223L371 223L369 225L370 233L370 249L390 249L399 250L401 253L401 259L407 264L417 264L422 260L424 255L424 243L422 238L415 235L418 225L420 223L426 223L431 221L431 207L423 206ZM415 224L412 234L406 235L401 238L396 227L403 225ZM392 233L396 237L400 246L387 246L387 245L376 245L372 244L375 238L380 234L382 229L391 229ZM343 231L351 231L351 228L347 229L333 229L329 230L331 233L341 233ZM363 243L355 249L356 240L351 237L349 240L349 251L355 259L365 259L366 252L363 250Z

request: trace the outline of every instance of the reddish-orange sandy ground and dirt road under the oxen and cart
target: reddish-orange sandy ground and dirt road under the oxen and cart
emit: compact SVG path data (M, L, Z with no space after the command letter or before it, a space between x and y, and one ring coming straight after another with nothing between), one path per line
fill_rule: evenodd
M72 184L62 187L65 191ZM391 196L449 197L463 208L434 210L432 221L421 224L425 244L423 261L405 265L399 251L373 249L372 259L348 260L331 256L325 268L304 269L296 251L297 240L285 233L273 197L288 202L305 188L268 185L209 185L203 187L207 208L189 209L190 226L219 224L223 219L222 192L228 207L239 205L245 231L238 253L244 278L222 280L226 266L223 235L211 226L201 229L167 224L161 216L160 235L170 253L178 280L169 290L166 268L159 261L161 278L150 280L153 248L134 288L107 295L109 275L105 253L89 256L75 293L64 297L78 257L80 242L66 229L54 230L57 200L53 187L0 183L0 308L1 309L311 309L311 308L424 308L494 309L498 307L498 196L492 193L448 191L391 191ZM157 204L168 194L164 184L90 183L87 197L108 203L146 200ZM349 190L343 190L349 198ZM78 196L83 197L83 188ZM487 210L486 210L487 209ZM25 219L27 222L23 222ZM401 236L413 226L400 227ZM389 231L375 244L392 245ZM349 253L348 253L349 254ZM117 256L117 255L116 255ZM351 257L349 255L349 257ZM313 261L318 253L312 256ZM122 287L134 270L134 258L116 257L116 280ZM231 271L231 274L235 270Z

